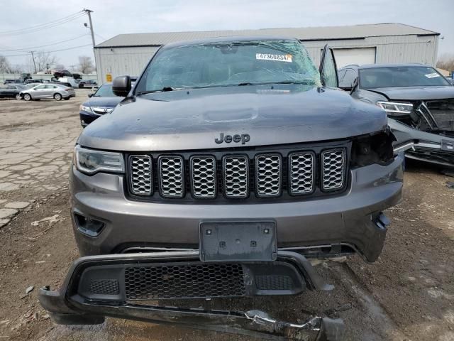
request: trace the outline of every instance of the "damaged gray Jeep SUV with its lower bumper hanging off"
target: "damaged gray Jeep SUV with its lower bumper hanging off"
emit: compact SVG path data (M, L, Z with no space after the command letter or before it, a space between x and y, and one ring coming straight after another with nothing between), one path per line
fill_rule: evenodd
M308 258L380 255L403 156L386 112L337 86L331 49L317 70L299 40L267 37L172 43L133 90L117 77L114 93L126 98L74 150L84 257L60 291L40 290L52 319L341 340L339 320L187 308L194 298L329 290Z

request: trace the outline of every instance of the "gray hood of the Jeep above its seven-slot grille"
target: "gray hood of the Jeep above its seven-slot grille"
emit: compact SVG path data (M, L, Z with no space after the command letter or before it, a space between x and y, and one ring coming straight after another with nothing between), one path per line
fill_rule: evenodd
M116 151L232 148L220 136L249 134L244 146L345 139L387 125L379 107L346 92L306 85L216 87L128 97L79 136L82 146Z

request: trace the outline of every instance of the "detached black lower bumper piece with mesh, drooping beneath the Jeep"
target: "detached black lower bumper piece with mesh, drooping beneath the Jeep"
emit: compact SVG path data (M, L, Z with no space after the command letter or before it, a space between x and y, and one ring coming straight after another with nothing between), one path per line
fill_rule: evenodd
M276 261L202 262L197 251L88 256L72 265L58 291L40 289L54 323L100 324L105 317L230 332L267 340L342 340L343 322L315 316L304 323L260 310L177 308L166 300L294 295L331 290L300 254L279 251ZM183 303L183 306L187 304Z

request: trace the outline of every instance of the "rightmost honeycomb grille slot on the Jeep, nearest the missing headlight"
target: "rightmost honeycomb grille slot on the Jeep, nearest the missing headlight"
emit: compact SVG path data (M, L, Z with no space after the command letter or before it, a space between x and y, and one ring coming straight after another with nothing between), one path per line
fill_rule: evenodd
M345 150L327 149L321 153L321 189L340 190L344 185Z

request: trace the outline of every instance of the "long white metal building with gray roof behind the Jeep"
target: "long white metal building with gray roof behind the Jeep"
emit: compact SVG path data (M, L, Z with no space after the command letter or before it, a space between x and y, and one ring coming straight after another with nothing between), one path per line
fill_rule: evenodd
M316 64L323 46L335 50L338 67L348 64L436 64L440 33L402 23L372 25L265 28L243 31L199 31L120 34L96 45L94 55L99 82L118 75L137 76L165 43L221 36L279 36L298 38Z

